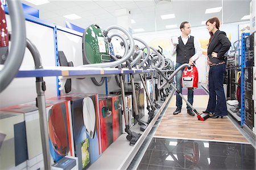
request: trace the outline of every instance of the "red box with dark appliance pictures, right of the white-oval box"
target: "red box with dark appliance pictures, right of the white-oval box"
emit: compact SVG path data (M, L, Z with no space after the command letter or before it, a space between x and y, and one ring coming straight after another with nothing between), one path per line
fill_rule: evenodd
M99 94L102 152L122 134L121 95Z

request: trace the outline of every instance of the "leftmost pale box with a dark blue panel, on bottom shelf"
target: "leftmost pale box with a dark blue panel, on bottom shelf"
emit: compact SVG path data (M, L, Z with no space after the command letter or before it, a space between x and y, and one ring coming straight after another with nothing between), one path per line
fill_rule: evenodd
M27 167L26 140L23 114L0 111L0 169Z

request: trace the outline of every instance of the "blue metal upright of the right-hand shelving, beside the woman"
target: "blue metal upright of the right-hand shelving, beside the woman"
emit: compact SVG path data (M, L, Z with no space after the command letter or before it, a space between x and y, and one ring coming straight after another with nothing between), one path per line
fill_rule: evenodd
M245 38L249 36L249 33L242 33L241 41L242 41L242 50L241 50L241 122L240 125L243 126L245 123L244 111L245 111L245 98L244 98L244 90L243 90L243 68L245 68Z

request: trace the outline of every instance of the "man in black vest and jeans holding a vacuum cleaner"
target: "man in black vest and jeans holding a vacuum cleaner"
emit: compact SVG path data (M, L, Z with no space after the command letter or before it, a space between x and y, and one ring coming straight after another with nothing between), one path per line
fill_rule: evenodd
M178 41L179 44L174 44L173 55L176 55L176 66L175 69L179 68L180 65L184 63L188 63L193 65L194 61L196 61L199 56L201 55L201 46L199 40L195 39L193 36L190 35L191 33L191 24L187 21L180 24L180 31L181 36L179 36ZM181 76L184 69L181 69L176 74L176 86L177 90L179 90L182 94L182 85L181 85ZM193 93L194 89L188 89L188 102L193 105ZM177 109L174 111L174 115L179 114L181 112L182 107L182 98L177 94L176 95L176 107ZM194 116L192 109L187 105L187 113L189 115Z

